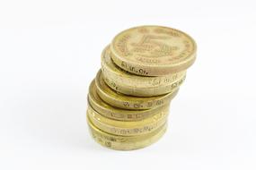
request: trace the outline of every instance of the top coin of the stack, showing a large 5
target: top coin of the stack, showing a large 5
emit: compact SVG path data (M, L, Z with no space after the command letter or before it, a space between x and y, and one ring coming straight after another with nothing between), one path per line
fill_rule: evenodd
M168 27L141 26L120 32L111 42L111 58L122 69L144 76L181 72L196 59L193 38Z

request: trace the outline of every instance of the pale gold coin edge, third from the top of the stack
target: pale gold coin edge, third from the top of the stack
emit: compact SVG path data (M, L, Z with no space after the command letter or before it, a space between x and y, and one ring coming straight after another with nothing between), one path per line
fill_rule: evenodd
M180 88L183 81L186 79L186 75L180 80L172 82L167 86L158 87L158 88L146 88L146 89L137 89L135 87L128 87L126 84L118 84L116 80L111 80L108 76L103 76L104 81L111 89L118 91L119 93L134 96L134 97L155 97L167 93L172 93L173 91Z

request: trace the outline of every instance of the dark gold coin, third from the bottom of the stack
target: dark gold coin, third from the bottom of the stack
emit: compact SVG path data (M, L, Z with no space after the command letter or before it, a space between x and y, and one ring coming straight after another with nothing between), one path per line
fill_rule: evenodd
M110 119L119 120L119 121L140 121L146 117L153 116L157 114L157 110L162 109L164 106L154 107L147 110L126 110L118 107L110 106L99 97L96 91L95 81L90 85L89 95L88 95L89 104L101 115L109 117Z

